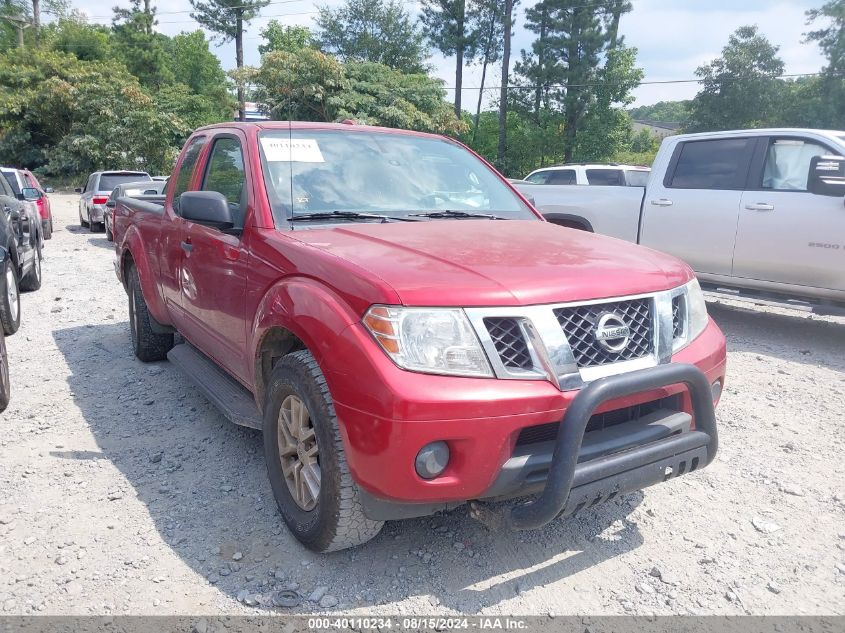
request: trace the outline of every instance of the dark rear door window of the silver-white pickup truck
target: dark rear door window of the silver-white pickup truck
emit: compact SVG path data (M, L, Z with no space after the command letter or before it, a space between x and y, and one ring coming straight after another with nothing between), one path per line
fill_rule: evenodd
M744 138L688 141L676 154L673 189L742 189L748 173L751 144Z

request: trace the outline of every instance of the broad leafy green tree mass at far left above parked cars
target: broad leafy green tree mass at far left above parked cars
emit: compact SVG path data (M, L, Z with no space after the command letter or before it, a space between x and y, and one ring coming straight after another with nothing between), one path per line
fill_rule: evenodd
M0 157L46 174L167 170L189 130L125 68L46 50L0 55Z

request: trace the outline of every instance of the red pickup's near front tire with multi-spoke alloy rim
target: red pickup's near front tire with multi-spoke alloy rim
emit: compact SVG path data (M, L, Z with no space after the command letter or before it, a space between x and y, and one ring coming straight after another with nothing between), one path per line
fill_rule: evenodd
M326 379L307 350L282 358L270 375L264 457L282 518L308 549L355 547L384 525L364 515Z

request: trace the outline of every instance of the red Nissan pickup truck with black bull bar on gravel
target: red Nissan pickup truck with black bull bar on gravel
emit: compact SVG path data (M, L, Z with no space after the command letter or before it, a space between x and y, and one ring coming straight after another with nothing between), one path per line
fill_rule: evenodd
M135 354L263 431L311 549L530 495L500 519L539 527L715 456L725 339L690 268L546 223L452 139L202 128L114 234Z

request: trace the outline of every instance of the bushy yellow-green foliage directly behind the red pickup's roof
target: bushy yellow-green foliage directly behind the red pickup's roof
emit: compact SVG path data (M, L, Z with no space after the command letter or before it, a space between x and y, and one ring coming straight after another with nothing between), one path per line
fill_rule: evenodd
M266 54L249 70L256 98L274 119L342 121L456 134L464 124L443 84L374 62L346 62L313 49Z

